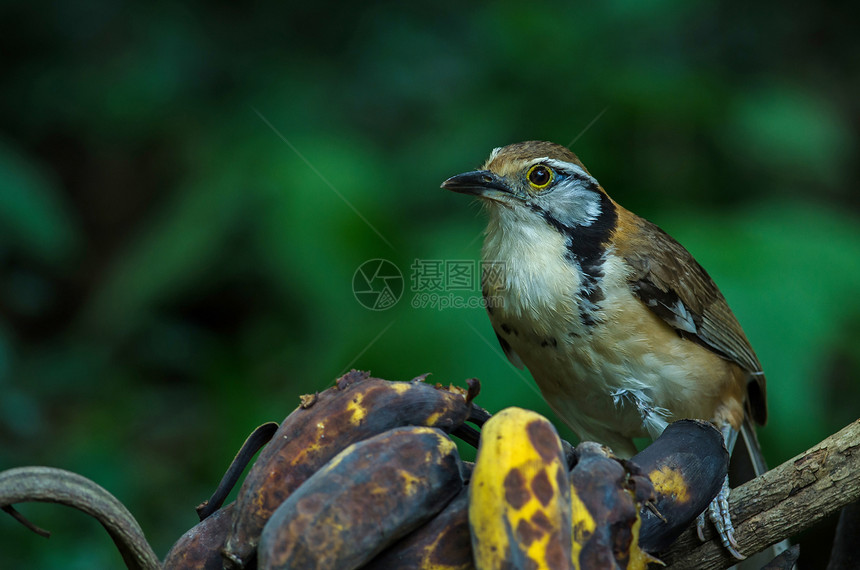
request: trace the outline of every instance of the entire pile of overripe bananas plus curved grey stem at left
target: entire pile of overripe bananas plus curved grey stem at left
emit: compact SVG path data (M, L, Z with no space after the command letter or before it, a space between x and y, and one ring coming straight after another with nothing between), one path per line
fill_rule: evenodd
M477 380L468 389L423 380L352 371L302 397L279 426L260 426L162 563L130 513L75 474L2 472L0 507L37 532L12 504L84 510L129 568L146 570L632 570L657 561L651 553L702 512L726 474L722 437L705 422L675 422L623 461L594 443L572 448L535 412L490 416L472 402ZM452 435L477 446L474 464Z

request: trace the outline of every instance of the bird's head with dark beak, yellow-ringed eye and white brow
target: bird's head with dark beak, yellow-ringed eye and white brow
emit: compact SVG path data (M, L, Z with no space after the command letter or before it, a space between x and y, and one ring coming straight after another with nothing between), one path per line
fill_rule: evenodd
M573 152L543 141L497 148L480 170L452 176L442 188L481 198L491 214L556 228L591 226L609 200Z

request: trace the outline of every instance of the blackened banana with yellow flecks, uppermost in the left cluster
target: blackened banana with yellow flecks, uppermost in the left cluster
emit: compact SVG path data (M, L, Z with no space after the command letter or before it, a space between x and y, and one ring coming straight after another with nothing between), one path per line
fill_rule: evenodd
M254 556L260 532L299 485L350 444L397 426L423 425L450 432L471 411L478 390L433 387L417 378L389 382L352 371L287 417L239 490L236 517L224 547L228 564L242 568Z

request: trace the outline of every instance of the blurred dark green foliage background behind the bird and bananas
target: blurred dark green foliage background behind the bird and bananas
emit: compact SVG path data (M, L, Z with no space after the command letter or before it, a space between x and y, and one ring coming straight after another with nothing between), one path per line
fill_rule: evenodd
M856 419L855 4L359 4L2 8L0 469L92 478L163 556L247 433L348 367L550 414L483 309L411 288L479 256L440 182L525 139L575 140L708 268L768 375L771 464ZM384 311L352 290L375 258L406 280ZM21 510L54 536L0 517L0 567L121 564L84 515Z

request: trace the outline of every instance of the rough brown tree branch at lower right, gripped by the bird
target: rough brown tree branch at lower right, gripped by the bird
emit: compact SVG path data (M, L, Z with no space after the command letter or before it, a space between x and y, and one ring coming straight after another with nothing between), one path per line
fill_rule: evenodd
M860 420L812 449L733 489L729 509L740 552L751 555L805 530L860 498ZM672 570L721 569L737 563L706 529L684 531L660 558Z

